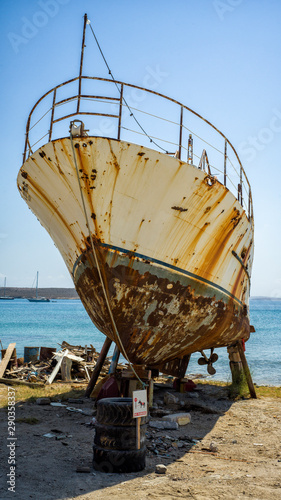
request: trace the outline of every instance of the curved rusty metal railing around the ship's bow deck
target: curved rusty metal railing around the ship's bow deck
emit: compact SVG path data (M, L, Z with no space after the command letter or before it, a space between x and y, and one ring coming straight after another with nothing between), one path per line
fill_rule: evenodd
M88 135L141 144L205 170L253 219L251 186L226 136L191 108L137 85L80 74L52 88L29 114L23 161L35 148L66 137L69 119L83 115Z

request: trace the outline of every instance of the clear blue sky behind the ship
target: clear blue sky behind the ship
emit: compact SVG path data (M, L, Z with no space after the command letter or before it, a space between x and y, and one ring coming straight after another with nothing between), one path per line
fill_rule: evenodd
M157 91L222 130L249 177L252 296L281 297L281 3L278 0L1 0L0 285L70 287L64 262L16 177L37 99L79 72L87 12L116 79ZM84 74L107 77L87 30ZM155 76L154 76L155 78Z

